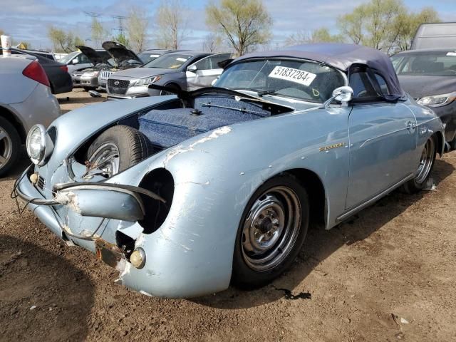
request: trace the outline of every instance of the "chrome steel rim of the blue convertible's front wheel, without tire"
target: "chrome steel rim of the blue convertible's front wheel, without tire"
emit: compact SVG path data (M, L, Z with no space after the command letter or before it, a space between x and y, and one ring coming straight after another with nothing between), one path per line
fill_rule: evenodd
M301 203L289 187L278 186L259 196L242 227L242 257L254 271L281 264L301 229Z

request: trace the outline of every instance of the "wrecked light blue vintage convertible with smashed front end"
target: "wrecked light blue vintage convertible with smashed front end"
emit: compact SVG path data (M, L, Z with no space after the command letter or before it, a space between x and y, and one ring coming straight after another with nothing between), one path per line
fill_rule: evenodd
M422 190L444 143L385 54L294 46L237 58L212 88L34 126L15 191L130 289L192 297L266 284L309 224L330 229L401 185Z

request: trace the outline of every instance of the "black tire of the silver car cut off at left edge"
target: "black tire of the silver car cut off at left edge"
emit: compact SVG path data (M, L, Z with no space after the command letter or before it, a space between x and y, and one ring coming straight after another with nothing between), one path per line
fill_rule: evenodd
M6 172L16 164L22 150L21 137L16 128L8 120L0 117L0 134L2 132L6 133L6 137L0 139L0 177L6 175Z

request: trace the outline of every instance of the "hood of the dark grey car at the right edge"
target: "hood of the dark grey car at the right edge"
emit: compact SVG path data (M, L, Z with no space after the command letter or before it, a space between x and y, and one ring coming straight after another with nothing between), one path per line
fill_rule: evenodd
M398 76L400 86L413 98L442 95L456 89L456 76Z

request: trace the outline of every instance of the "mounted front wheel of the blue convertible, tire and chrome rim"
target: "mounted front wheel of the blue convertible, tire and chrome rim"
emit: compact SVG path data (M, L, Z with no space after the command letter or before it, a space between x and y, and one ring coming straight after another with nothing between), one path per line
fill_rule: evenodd
M263 286L285 271L301 249L309 226L309 199L291 175L274 177L249 200L237 232L232 283Z

